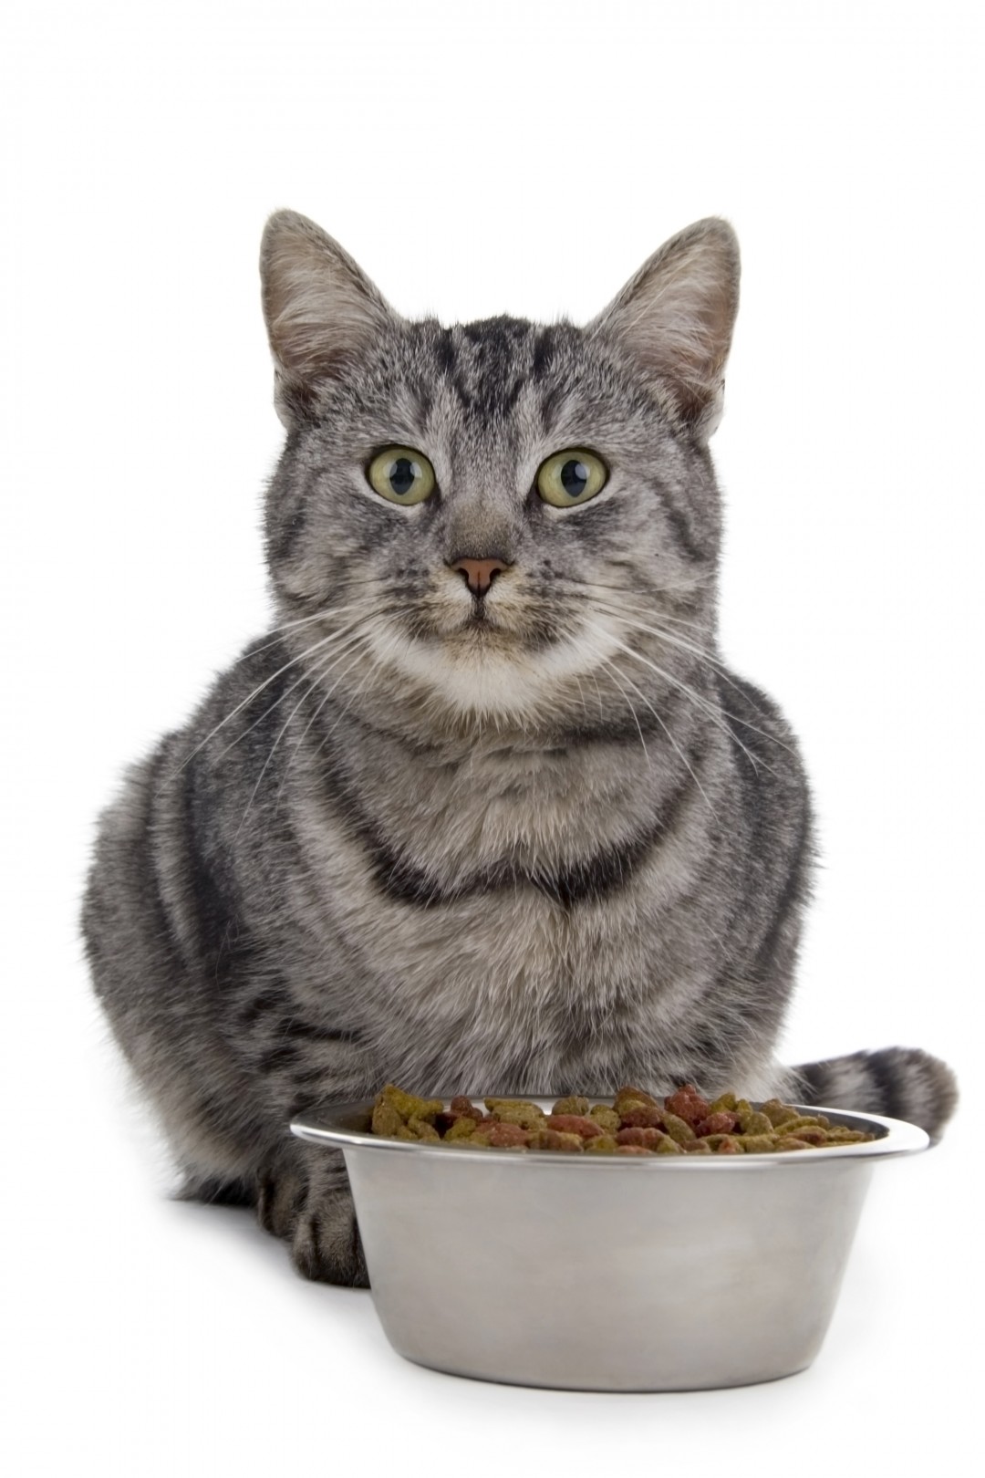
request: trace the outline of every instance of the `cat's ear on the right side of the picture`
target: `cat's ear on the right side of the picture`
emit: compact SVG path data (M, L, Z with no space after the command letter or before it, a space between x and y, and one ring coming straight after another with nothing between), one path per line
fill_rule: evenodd
M588 328L629 350L676 414L707 437L722 414L737 309L738 241L712 216L665 242Z

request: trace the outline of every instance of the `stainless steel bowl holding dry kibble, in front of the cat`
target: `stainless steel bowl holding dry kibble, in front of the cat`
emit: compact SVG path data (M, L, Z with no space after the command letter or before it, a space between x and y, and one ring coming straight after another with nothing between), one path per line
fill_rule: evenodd
M746 1156L477 1153L375 1138L371 1108L338 1104L291 1129L346 1157L393 1348L452 1375L574 1391L803 1370L873 1166L929 1144L898 1119L805 1108L877 1138Z

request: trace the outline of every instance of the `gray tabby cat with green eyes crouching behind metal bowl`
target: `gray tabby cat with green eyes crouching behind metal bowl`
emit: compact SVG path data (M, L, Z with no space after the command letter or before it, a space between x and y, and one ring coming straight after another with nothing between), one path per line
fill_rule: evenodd
M923 1052L772 1057L811 813L789 726L716 647L730 226L585 328L408 322L289 211L261 276L279 624L130 772L84 906L188 1194L365 1283L341 1159L286 1125L388 1079L693 1080L936 1135L954 1079Z

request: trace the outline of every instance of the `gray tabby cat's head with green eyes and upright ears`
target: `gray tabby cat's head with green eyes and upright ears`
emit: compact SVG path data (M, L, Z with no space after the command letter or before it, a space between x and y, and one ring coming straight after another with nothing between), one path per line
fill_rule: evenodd
M638 721L713 621L731 228L673 236L585 327L411 322L292 211L261 282L288 429L269 562L284 621L335 637L326 681L530 727L585 715L588 680Z

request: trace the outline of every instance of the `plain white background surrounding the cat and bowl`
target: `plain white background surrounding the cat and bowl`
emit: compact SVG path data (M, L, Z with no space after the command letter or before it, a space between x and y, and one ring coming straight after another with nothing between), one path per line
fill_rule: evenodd
M981 1135L876 1174L808 1373L511 1389L390 1352L168 1168L77 900L121 766L267 619L266 214L403 312L594 315L735 225L722 641L783 702L824 871L784 1054L981 1082L981 34L973 6L16 3L1 324L4 1329L12 1474L917 1474L957 1462ZM12 1310L12 1312L10 1312Z

